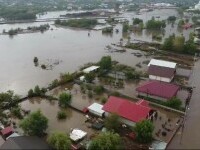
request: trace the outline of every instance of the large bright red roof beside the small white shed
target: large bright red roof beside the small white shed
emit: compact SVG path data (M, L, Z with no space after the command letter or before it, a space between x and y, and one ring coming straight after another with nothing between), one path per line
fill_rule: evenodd
M133 103L127 99L110 96L108 101L103 106L103 110L110 113L116 113L119 116L131 120L133 122L139 122L147 118L151 108L144 106L145 102Z

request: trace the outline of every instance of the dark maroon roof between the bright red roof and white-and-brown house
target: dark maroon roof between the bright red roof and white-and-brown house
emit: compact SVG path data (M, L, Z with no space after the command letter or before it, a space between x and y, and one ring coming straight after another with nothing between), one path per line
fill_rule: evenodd
M170 99L176 96L179 89L180 87L175 84L160 81L150 81L136 88L136 91L153 96L158 96L161 98Z

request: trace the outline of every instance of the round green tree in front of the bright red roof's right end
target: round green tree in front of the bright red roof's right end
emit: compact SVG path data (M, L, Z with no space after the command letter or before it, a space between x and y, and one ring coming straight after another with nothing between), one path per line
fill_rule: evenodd
M134 131L136 132L136 139L140 143L151 142L153 130L154 126L149 120L138 122L134 127Z

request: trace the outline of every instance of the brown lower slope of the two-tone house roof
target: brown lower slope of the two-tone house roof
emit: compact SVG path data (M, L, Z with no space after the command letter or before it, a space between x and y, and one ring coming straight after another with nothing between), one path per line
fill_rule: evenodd
M148 69L149 75L165 77L165 78L172 78L175 74L175 71L176 70L174 68L161 67L155 65L150 65Z

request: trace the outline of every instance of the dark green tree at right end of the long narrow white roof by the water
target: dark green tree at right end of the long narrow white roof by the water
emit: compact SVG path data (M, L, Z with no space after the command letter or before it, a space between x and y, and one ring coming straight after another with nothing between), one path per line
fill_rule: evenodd
M101 69L110 70L112 68L112 59L110 56L103 56L99 64Z

